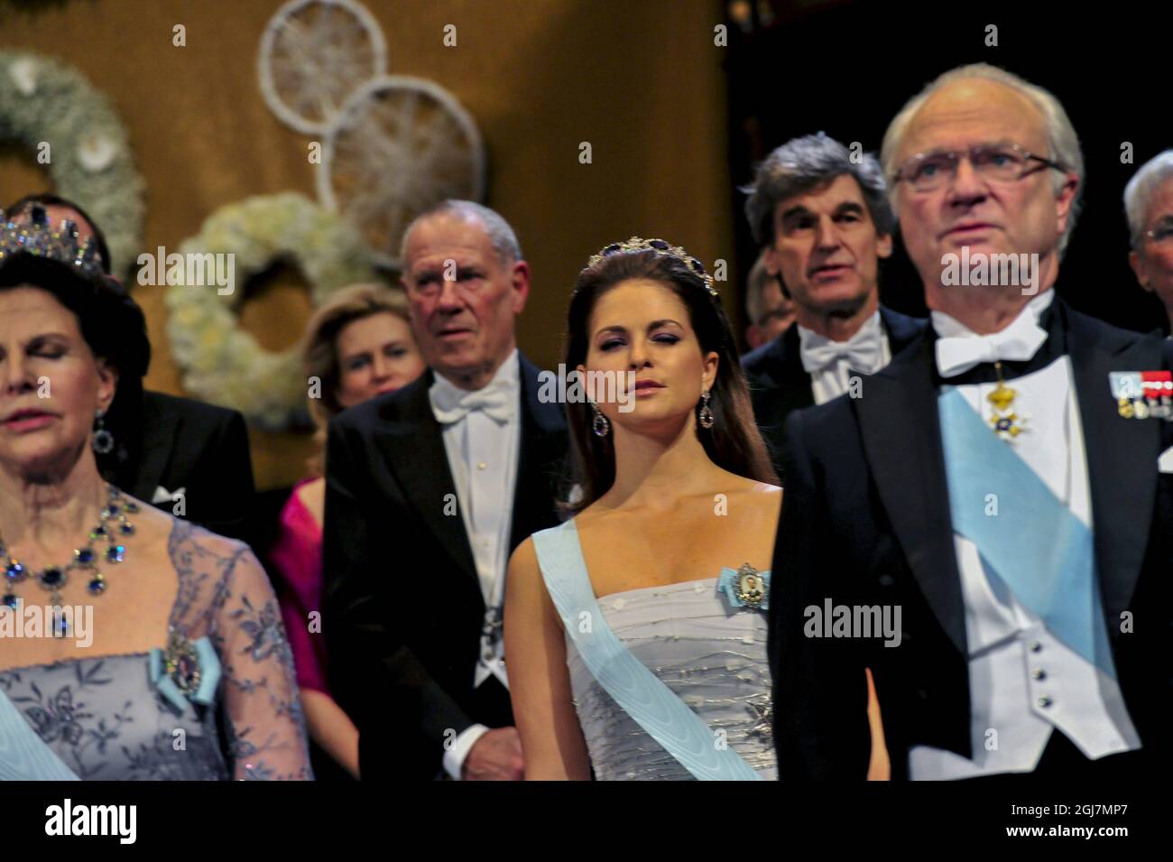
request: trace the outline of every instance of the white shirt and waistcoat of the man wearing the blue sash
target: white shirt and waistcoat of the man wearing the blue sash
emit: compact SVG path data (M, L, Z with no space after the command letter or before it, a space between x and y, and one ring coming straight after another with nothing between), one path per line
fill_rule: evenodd
M1037 323L1052 299L1052 291L1044 292L1022 314L1033 315ZM977 338L941 312L933 312L933 326L942 338ZM958 386L957 392L989 422L994 407L986 395L996 386ZM1018 393L1013 407L1025 422L1023 433L1008 444L1091 528L1091 488L1071 359L1060 357L1045 368L1015 378L1009 386ZM955 534L954 549L965 603L974 760L942 748L915 746L909 751L909 778L1030 772L1056 728L1092 760L1139 748L1140 738L1119 684L1023 608L1009 588L985 570L972 542Z

